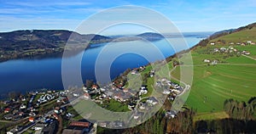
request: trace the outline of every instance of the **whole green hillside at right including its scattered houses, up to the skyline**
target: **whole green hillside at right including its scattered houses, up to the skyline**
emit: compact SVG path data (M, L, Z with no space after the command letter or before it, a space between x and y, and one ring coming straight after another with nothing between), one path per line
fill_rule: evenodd
M183 54L183 65L193 65L194 80L187 100L199 114L224 111L224 101L247 101L256 95L256 25L247 25L228 34L210 36ZM213 63L216 61L216 64ZM182 66L182 65L181 65ZM185 68L185 67L183 67ZM179 67L172 72L179 78ZM224 116L225 117L225 116Z

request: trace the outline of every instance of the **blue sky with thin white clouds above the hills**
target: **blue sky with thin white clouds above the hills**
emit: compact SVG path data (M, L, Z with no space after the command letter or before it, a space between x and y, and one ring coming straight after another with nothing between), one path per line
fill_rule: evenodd
M0 32L37 29L75 31L90 16L122 5L153 9L166 16L182 32L222 31L256 21L255 0L0 0ZM119 18L103 17L102 21L114 19ZM151 18L149 21L156 20ZM119 30L122 29L120 27ZM130 33L147 31L134 25L124 27L128 27ZM105 34L119 34L117 29L112 28Z

